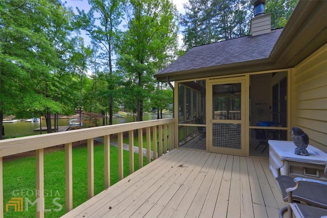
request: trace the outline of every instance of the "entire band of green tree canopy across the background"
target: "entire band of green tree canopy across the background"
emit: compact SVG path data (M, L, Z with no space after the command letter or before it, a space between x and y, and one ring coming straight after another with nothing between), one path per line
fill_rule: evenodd
M272 28L285 25L297 1L267 0ZM112 124L121 105L141 121L145 111L173 103L172 90L154 74L193 46L248 34L253 16L247 0L189 0L183 15L170 0L88 4L75 14L60 0L1 2L0 130L4 115L45 116L51 132L51 115L82 110Z

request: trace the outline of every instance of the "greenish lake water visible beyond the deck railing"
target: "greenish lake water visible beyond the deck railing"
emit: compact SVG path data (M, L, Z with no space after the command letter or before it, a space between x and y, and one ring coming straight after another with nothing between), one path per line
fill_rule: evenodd
M172 115L163 114L162 118L172 118ZM143 115L143 120L153 120L157 119L157 114L145 114ZM69 119L59 119L59 126L68 126ZM109 120L109 119L108 119ZM133 116L123 116L112 118L113 124L124 124L133 122ZM52 126L54 125L54 120L51 120ZM42 127L46 127L45 119L42 119ZM37 135L40 132L35 132L34 130L40 128L40 122L25 122L18 121L15 123L4 123L5 128L5 138L7 137L22 137L28 135ZM43 132L44 133L44 132Z

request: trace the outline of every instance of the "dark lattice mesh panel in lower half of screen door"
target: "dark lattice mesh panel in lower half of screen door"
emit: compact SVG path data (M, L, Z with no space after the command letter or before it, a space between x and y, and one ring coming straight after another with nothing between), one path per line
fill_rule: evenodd
M241 124L213 123L213 147L241 149Z

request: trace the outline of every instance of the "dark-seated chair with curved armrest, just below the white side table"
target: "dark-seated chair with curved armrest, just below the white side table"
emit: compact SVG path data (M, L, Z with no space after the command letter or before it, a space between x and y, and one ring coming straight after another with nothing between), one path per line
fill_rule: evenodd
M283 200L289 203L287 207L279 211L279 217L283 217L283 213L287 210L289 217L292 217L292 207L300 208L302 214L306 213L306 209L308 211L309 209L311 211L318 211L320 208L327 209L327 182L300 177L292 178L289 176L278 176L276 180L282 191ZM296 206L294 204L296 201L303 202L311 207Z

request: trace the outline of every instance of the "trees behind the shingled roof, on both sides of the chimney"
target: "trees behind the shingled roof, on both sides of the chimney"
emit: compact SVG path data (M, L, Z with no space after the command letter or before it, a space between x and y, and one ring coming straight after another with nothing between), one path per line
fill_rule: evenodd
M267 0L265 13L271 13L272 29L286 25L298 0ZM249 33L254 1L189 0L180 15L186 51L194 46L245 36Z

